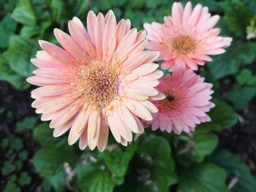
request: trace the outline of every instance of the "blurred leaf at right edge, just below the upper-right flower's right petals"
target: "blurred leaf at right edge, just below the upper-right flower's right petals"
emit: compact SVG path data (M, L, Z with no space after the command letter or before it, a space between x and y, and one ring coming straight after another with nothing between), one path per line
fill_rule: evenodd
M208 66L211 74L220 79L229 74L236 74L241 64L250 64L255 60L256 44L252 42L233 42L227 52L214 56Z

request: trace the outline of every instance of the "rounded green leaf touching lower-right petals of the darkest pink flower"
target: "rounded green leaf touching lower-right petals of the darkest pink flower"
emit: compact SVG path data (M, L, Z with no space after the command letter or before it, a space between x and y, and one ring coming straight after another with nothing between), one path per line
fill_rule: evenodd
M215 104L216 107L208 113L211 121L197 126L198 134L208 131L222 131L236 124L237 114L232 107L224 102L215 102Z

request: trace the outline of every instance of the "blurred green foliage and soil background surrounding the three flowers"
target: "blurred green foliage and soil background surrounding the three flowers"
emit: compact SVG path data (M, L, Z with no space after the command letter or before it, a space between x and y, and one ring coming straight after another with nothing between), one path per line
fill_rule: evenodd
M182 1L186 3L187 1ZM146 130L129 147L110 138L104 153L53 138L30 107L26 82L35 67L38 39L57 43L53 28L87 12L113 9L132 27L163 21L172 0L1 0L0 1L0 191L256 191L256 1L195 0L221 16L222 36L233 37L227 52L198 74L214 84L210 123L191 134Z

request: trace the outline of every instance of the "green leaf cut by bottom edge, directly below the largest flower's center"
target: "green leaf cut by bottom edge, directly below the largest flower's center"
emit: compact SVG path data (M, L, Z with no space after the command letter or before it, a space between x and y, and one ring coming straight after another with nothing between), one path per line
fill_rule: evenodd
M110 172L101 164L82 165L76 167L78 185L83 192L112 192L115 181Z

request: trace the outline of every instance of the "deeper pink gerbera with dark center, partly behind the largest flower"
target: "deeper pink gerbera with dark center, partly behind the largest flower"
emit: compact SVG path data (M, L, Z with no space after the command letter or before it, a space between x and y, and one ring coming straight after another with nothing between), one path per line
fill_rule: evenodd
M153 101L159 112L153 120L146 123L151 128L181 134L181 131L194 131L197 124L210 121L206 114L214 104L209 101L212 85L204 82L204 78L195 74L192 69L178 67L173 74L160 79L157 90L164 93L162 101Z

